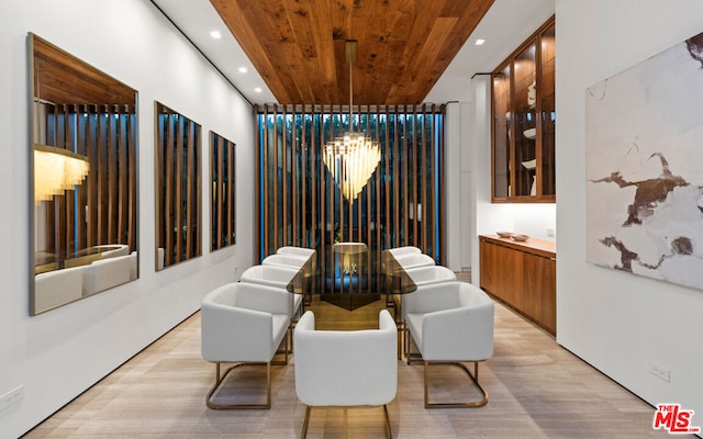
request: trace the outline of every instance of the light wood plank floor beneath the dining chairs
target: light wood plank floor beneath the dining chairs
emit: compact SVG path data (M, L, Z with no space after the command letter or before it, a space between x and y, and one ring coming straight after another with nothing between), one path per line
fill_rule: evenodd
M319 328L378 322L383 301L349 313L314 303ZM654 408L559 347L502 305L495 307L495 352L481 364L490 395L481 408L425 409L423 368L398 364L389 404L395 438L655 438ZM294 358L274 367L270 410L216 412L204 397L214 364L200 356L200 313L186 319L100 383L25 435L26 438L295 438L305 407L294 387ZM458 368L439 367L437 395L471 396ZM256 397L264 368L235 372L222 397ZM341 376L339 379L344 379ZM232 386L239 385L238 393ZM464 393L464 395L459 394ZM346 419L346 421L345 421ZM346 425L345 425L346 423ZM380 408L313 409L309 438L383 438Z

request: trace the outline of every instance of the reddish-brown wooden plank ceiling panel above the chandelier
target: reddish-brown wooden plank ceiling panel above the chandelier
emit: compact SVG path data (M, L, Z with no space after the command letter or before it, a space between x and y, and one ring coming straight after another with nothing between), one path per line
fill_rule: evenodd
M282 104L420 104L493 0L211 0Z

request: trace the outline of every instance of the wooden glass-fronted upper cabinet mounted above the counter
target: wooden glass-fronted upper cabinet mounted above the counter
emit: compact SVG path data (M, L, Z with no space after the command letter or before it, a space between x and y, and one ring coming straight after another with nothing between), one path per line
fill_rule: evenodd
M554 203L554 16L491 76L492 200Z

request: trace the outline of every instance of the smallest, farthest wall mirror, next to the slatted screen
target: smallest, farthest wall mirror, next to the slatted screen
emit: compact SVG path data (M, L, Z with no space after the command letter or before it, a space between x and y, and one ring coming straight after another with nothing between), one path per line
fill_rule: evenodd
M211 250L236 243L235 215L235 145L217 133L210 132Z

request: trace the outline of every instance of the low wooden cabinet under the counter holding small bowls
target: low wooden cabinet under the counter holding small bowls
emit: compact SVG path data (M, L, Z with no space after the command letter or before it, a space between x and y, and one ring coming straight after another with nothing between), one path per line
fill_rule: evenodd
M479 251L481 289L556 335L555 244L480 236Z

